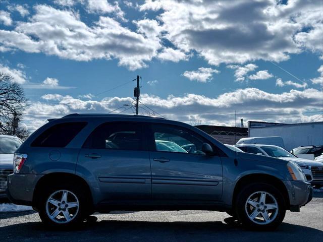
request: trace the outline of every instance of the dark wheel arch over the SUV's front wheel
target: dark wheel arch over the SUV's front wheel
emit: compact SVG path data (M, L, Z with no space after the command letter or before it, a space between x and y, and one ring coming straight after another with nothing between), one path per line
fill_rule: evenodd
M270 175L270 174L263 174L263 173L254 173L254 174L248 174L245 176L242 176L236 183L233 196L232 196L232 207L235 207L235 202L237 195L239 191L248 184L252 183L267 183L270 185L273 185L276 187L279 191L282 192L282 195L285 200L285 207L286 209L289 209L290 207L290 201L289 201L289 195L286 186L284 185L283 181L281 181L276 176Z

